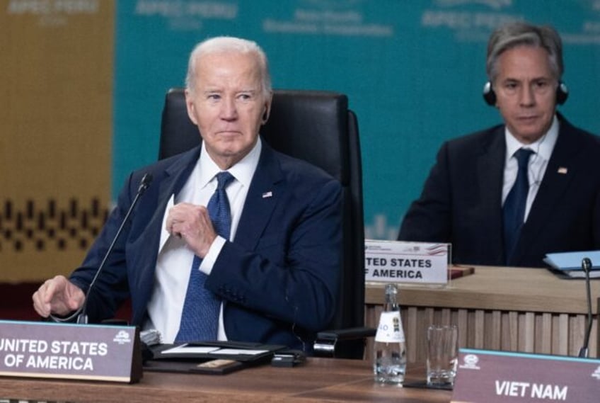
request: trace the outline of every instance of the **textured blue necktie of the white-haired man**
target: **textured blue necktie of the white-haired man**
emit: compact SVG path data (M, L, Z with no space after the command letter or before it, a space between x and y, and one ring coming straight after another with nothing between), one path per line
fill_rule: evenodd
M229 240L231 230L231 210L225 188L233 181L229 172L217 174L217 190L214 191L207 206L214 231ZM217 340L219 327L219 310L221 300L211 291L204 288L207 275L200 271L200 259L194 256L188 292L185 294L183 312L179 331L175 341Z

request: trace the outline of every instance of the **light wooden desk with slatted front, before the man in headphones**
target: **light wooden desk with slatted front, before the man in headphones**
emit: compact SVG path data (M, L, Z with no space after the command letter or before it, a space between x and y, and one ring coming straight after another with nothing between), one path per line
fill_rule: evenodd
M429 324L456 324L459 346L577 356L587 319L585 281L565 280L543 268L475 266L448 285L399 284L409 363L425 361ZM592 280L594 324L589 356L599 354L600 280ZM376 327L383 283L367 283L365 322ZM371 356L371 341L367 359Z

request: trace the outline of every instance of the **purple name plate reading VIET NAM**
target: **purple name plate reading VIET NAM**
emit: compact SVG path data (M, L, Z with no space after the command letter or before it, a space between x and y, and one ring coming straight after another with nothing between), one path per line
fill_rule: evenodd
M598 401L600 360L461 349L451 403Z

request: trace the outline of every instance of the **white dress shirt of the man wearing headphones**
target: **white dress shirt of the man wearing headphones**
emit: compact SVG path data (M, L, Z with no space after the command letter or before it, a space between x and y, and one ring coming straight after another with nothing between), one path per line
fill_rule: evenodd
M507 154L504 161L504 184L502 186L502 205L506 200L507 195L514 185L514 181L517 181L517 172L519 171L519 165L517 164L517 158L514 157L514 152L519 148L531 149L533 154L529 157L529 165L527 167L527 177L529 178L529 193L527 194L527 203L525 206L525 217L524 221L527 221L531 205L538 194L540 183L546 172L548 161L552 155L556 139L558 139L558 119L554 116L552 125L546 135L540 137L536 142L531 144L521 144L508 127L504 130L504 138L507 144Z

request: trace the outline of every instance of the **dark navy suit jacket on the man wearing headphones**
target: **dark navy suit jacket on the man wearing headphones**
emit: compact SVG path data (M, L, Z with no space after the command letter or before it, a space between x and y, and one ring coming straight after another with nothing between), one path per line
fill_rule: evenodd
M600 140L558 118L558 140L511 261L502 237L504 125L442 145L398 239L451 242L455 263L490 266L543 267L548 253L600 249Z

